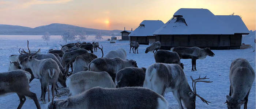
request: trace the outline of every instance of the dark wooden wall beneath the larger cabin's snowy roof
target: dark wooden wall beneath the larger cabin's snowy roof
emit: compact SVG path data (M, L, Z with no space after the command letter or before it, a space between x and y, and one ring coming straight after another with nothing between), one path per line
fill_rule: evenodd
M242 35L157 35L156 41L161 42L161 49L172 47L210 47L211 49L239 49Z

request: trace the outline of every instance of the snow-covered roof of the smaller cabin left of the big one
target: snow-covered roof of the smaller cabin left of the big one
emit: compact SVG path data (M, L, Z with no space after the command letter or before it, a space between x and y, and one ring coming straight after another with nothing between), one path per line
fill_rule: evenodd
M161 20L143 20L129 36L153 36L153 32L163 25Z

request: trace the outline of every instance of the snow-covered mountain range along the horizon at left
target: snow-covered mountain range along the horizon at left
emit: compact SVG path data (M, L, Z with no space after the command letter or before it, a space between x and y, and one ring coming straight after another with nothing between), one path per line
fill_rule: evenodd
M48 31L50 35L62 35L68 30L75 30L77 33L85 31L87 34L97 34L101 32L102 35L112 35L112 33L119 35L121 32L121 30L98 30L60 23L52 23L35 28L0 24L0 35L43 35L46 31Z

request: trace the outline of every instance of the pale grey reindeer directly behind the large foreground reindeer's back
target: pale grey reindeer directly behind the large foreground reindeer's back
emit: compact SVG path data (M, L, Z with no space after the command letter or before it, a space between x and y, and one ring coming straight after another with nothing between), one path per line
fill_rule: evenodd
M68 96L75 96L97 86L106 88L116 87L110 75L105 71L81 71L68 77L66 84L70 90Z

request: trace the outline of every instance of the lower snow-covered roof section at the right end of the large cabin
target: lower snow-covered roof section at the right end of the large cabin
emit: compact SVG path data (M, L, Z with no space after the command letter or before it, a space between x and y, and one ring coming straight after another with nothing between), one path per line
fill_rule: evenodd
M220 16L216 15L220 20L222 20L224 23L228 24L233 30L234 33L244 33L249 34L248 28L245 26L243 20L240 16L237 15L226 15L226 16Z

